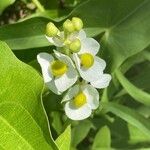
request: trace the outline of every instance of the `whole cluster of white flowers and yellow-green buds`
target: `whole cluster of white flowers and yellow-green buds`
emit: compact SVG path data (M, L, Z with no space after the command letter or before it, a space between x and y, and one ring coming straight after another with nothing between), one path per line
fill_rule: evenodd
M111 76L104 73L106 62L96 56L100 45L86 36L83 22L73 17L60 31L52 22L46 26L47 40L56 46L53 54L40 53L37 60L44 82L56 94L68 90L62 100L65 113L72 120L88 118L99 106L96 90L109 85Z

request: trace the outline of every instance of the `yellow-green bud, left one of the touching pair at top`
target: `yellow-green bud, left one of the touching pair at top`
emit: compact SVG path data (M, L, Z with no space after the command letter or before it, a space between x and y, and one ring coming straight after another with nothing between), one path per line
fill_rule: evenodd
M75 31L74 25L73 25L72 21L70 21L69 19L67 19L63 23L63 29L67 32L70 32L70 33Z

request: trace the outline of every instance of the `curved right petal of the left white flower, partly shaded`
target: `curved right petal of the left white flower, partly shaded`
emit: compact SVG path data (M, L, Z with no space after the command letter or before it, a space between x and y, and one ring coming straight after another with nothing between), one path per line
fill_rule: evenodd
M54 53L59 60L65 62L68 66L67 73L54 79L58 91L64 92L77 81L78 73L73 66L72 60L68 56L56 51L54 51Z

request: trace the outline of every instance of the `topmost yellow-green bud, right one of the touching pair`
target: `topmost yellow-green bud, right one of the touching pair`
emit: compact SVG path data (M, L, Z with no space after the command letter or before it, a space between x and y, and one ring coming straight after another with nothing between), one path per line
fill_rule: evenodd
M83 22L80 18L73 17L72 23L74 25L75 30L80 31L83 28Z

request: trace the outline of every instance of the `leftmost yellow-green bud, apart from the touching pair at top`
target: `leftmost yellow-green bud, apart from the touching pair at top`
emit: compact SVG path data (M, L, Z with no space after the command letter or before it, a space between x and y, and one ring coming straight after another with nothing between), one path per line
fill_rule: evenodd
M58 28L52 23L49 22L46 25L46 35L49 37L55 37L58 34Z

